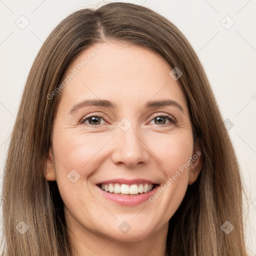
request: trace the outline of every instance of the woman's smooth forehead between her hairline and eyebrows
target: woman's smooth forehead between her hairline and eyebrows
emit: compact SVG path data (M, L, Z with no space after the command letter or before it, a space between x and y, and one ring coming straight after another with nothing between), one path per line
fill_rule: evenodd
M162 56L145 47L124 42L94 44L65 71L63 79L72 78L61 91L61 98L73 103L84 98L109 98L117 105L170 98L185 108L183 92L169 75L170 70Z

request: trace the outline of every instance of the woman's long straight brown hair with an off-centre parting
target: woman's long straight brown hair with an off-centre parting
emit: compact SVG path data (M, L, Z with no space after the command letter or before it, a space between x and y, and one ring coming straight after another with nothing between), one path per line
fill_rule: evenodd
M35 57L3 173L4 255L70 255L63 201L56 181L44 178L61 91L51 99L47 95L82 50L106 40L152 49L166 59L170 70L178 67L183 73L179 83L194 140L201 144L203 166L169 221L166 255L245 256L240 170L202 65L174 24L146 7L124 2L71 13ZM221 228L226 221L234 226L228 234Z

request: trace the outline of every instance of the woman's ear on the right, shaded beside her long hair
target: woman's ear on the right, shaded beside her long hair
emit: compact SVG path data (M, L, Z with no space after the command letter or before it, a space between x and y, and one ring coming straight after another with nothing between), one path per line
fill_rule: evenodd
M191 185L198 177L203 164L202 150L199 140L194 143L193 155L191 156L191 164L189 168L188 184Z

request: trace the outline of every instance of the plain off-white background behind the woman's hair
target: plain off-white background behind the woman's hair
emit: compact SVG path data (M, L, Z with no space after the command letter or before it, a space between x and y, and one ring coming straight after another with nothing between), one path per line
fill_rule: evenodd
M233 123L233 127L227 128L248 195L244 206L248 217L246 245L250 255L256 255L256 0L127 2L149 7L168 18L197 52L223 119ZM25 80L42 42L71 12L103 3L100 0L0 0L0 181ZM21 27L26 22L29 24Z

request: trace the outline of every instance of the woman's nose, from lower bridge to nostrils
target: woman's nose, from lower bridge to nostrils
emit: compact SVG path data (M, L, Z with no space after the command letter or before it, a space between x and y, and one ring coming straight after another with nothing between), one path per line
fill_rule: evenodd
M127 131L117 129L113 141L114 150L112 161L116 164L124 163L132 167L136 164L147 163L150 159L150 150L143 141L142 134L130 127Z

